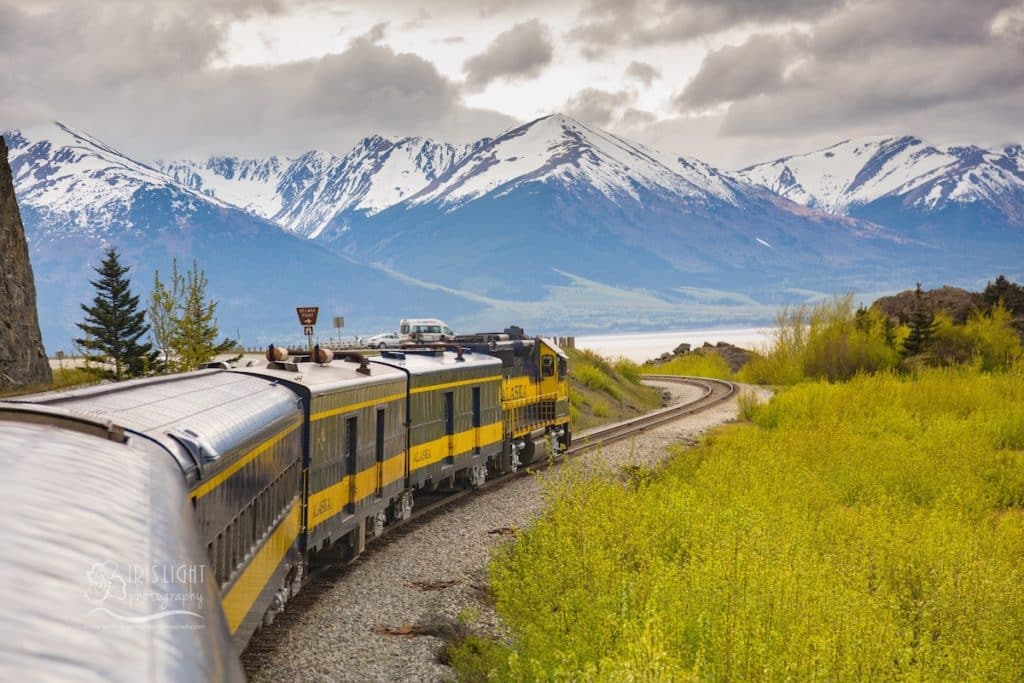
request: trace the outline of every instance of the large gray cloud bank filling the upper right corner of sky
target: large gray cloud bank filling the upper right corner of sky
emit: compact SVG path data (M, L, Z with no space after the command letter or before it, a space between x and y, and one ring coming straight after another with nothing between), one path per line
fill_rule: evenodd
M731 136L933 130L948 137L958 129L961 140L1019 137L1019 113L1006 104L1024 111L1016 14L1004 11L1015 5L851 4L807 32L755 35L708 54L674 103L681 113L724 105L720 134ZM946 120L952 113L958 120Z

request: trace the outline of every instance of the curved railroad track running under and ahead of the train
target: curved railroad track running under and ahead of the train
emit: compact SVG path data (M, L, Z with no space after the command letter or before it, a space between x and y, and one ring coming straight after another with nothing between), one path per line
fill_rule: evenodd
M643 379L657 382L674 382L695 386L702 391L700 398L660 409L647 413L638 418L633 418L624 422L604 425L595 429L573 435L573 444L558 459L550 459L539 456L538 460L530 465L520 468L517 472L507 474L488 480L478 488L458 489L444 494L432 494L417 501L414 508L413 517L402 523L387 526L384 532L367 545L366 551L355 560L347 564L340 563L337 558L332 561L317 563L310 567L307 583L302 591L293 597L284 612L278 615L273 624L263 627L253 636L245 652L242 654L242 665L248 677L252 677L262 668L265 658L271 657L278 650L279 643L287 637L292 625L298 616L309 606L328 592L338 583L354 564L371 559L378 552L387 548L391 543L415 532L417 528L430 521L441 512L452 510L465 505L477 496L484 495L493 489L499 488L511 480L524 476L529 472L546 469L554 464L559 464L567 458L581 456L584 453L612 443L614 441L642 434L643 432L666 423L678 420L687 415L693 415L706 411L714 405L722 403L735 393L735 386L730 382L696 377L677 377L673 375L644 375ZM538 443L543 450L544 445Z

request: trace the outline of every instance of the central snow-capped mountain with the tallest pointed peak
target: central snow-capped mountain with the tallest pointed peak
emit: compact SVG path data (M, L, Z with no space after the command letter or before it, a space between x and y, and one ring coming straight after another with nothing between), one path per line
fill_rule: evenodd
M879 226L560 115L483 141L408 200L319 234L419 278L531 297L564 282L555 268L657 290L702 273L745 286L899 248Z

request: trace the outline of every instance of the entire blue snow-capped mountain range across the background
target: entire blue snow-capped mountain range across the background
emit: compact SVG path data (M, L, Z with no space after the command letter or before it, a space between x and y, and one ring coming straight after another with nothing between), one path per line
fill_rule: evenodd
M1024 255L1020 145L860 138L728 172L561 115L462 146L371 136L344 155L155 165L62 124L5 136L51 346L110 243L143 292L172 257L198 259L222 328L251 343L294 336L291 308L317 303L365 333L411 315L553 333L764 322L850 289L1019 276Z

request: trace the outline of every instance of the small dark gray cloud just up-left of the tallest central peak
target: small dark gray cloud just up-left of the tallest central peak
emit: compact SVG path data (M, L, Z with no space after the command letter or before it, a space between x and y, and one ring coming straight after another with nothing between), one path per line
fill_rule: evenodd
M464 65L466 87L482 90L498 78L529 78L551 63L551 31L538 19L517 24Z

